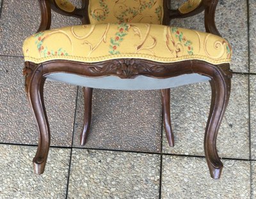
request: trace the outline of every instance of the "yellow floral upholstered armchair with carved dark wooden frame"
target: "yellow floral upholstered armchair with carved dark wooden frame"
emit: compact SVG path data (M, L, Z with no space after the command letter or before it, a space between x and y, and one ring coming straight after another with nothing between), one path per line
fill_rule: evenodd
M93 88L161 90L164 129L170 147L170 87L209 81L211 109L205 129L205 157L211 177L220 178L223 164L216 149L221 119L230 96L228 41L214 23L218 0L188 0L171 10L168 0L89 1L76 8L67 0L39 0L42 20L38 32L24 41L25 88L39 131L33 159L43 173L50 145L44 106L47 78L83 86L84 129L90 129ZM81 19L83 25L49 30L51 10ZM205 12L206 33L168 26L172 18Z

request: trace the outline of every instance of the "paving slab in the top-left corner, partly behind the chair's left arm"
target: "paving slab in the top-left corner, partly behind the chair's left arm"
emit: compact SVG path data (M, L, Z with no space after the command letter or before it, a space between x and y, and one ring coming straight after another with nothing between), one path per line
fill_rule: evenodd
M3 1L0 18L0 55L22 56L22 43L25 38L36 33L40 17L38 1L24 0L22 6L15 0ZM53 29L76 24L80 24L79 19L52 12Z

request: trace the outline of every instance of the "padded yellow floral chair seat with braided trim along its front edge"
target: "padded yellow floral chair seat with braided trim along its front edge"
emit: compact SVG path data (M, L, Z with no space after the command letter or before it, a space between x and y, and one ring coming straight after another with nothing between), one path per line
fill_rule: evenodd
M228 41L214 34L157 24L93 24L36 33L24 41L25 61L64 59L87 63L117 58L158 62L191 59L229 63Z

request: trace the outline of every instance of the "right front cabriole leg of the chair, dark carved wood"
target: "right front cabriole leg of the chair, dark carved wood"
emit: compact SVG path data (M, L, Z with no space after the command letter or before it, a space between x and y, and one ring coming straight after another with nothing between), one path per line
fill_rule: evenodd
M214 75L210 81L212 100L204 138L205 158L213 179L220 179L223 168L223 164L218 156L216 140L221 121L228 105L231 87L231 75L227 75L221 70L219 72L220 73Z

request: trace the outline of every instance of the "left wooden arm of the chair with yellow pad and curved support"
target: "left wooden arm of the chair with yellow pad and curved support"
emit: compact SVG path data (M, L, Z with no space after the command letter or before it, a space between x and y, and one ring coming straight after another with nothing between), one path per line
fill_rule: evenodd
M37 32L45 31L51 27L51 10L60 13L61 15L81 18L83 24L88 22L88 17L86 17L86 4L88 1L82 1L82 8L76 8L68 0L38 0L41 10L41 24Z

